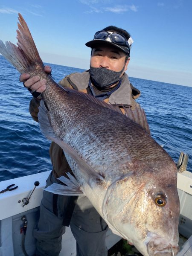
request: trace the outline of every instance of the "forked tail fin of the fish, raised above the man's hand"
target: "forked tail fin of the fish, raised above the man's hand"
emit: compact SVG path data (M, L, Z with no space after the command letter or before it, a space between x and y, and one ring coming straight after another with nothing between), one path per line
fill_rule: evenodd
M11 42L3 44L3 41L0 40L0 53L20 73L27 73L32 65L40 64L43 67L43 61L40 58L29 28L20 13L18 20L17 46Z

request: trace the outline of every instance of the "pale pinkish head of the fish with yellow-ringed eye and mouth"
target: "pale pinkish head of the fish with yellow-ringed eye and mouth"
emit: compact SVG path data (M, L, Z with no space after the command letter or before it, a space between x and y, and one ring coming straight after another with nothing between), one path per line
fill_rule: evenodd
M176 255L180 203L175 163L158 170L148 167L116 180L106 212L112 231L144 256Z

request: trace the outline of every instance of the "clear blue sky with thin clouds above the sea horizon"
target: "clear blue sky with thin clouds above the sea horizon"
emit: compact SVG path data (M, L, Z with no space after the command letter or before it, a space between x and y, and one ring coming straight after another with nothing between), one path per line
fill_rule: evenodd
M114 25L134 40L128 75L192 86L192 0L1 0L0 39L16 44L17 14L44 62L89 68L85 46Z

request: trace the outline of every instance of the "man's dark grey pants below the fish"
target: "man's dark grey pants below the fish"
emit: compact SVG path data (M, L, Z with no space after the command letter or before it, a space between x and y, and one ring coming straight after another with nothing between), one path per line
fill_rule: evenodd
M51 174L47 186L60 183ZM75 208L70 220L71 204ZM73 209L73 206L72 206ZM58 256L61 250L61 239L65 226L70 220L70 228L76 239L77 256L107 256L105 244L107 224L90 203L87 197L79 196L71 200L70 196L52 194L44 191L40 205L40 218L34 229L36 255Z

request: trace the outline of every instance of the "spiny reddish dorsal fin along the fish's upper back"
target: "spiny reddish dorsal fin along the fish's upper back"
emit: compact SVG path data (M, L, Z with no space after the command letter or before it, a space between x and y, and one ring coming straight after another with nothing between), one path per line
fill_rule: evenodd
M121 114L121 115L125 115L127 116L129 119L133 120L134 122L136 122L137 124L139 124L143 129L145 129L145 131L150 134L150 129L149 129L149 125L147 122L147 118L145 115L145 111L143 110L143 108L140 107L140 105L138 104L137 107L135 108L135 110L132 110L131 108L125 108L123 105L122 106L118 106L118 105L111 105L111 104L107 104L104 101L100 101L99 99L96 99L95 97L87 94L87 93L83 93L74 89L70 89L70 88L65 88L66 90L76 93L79 96L88 99L91 102L96 103L97 105L100 105L104 108L108 108L111 109L113 111L116 111L117 113ZM119 108L121 107L123 109L123 111L121 111L121 109ZM123 113L124 112L124 113Z

